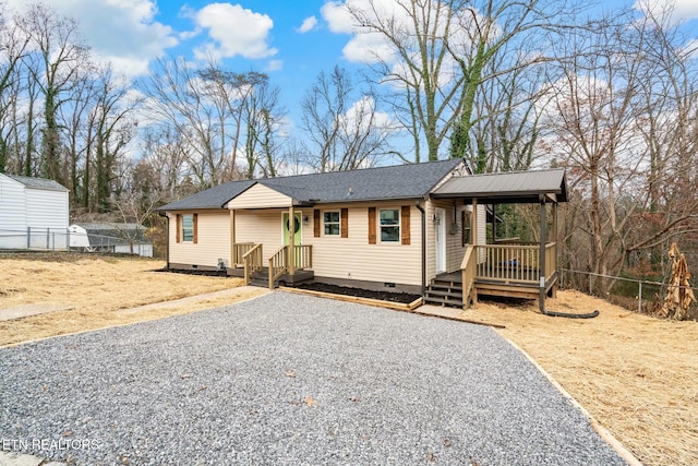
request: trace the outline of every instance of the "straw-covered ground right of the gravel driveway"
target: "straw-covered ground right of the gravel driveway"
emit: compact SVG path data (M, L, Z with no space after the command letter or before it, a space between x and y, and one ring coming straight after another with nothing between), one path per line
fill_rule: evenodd
M546 309L595 319L549 318L529 302L480 302L461 316L497 330L535 359L645 465L698 464L698 323L629 312L578 291Z

